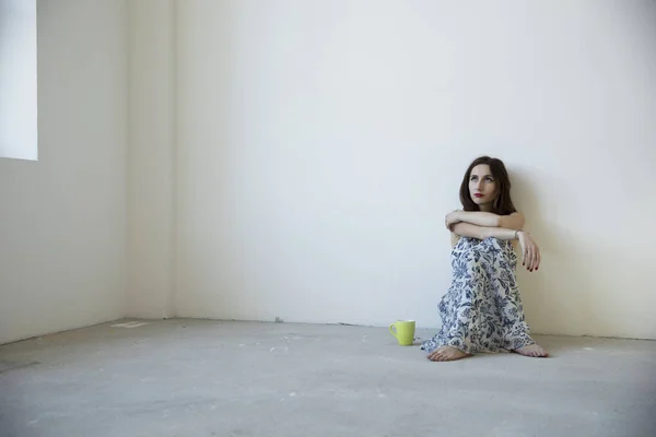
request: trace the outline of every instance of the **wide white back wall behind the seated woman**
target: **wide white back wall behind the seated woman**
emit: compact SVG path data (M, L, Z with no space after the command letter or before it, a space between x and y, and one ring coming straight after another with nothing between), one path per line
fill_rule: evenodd
M179 316L436 327L503 158L534 332L656 338L656 3L178 2Z

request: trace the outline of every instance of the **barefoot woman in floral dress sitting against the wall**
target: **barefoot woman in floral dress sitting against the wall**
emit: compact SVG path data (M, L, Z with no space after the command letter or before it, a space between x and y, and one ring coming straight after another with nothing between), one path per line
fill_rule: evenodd
M475 160L460 186L464 211L446 216L452 232L452 285L440 302L442 329L422 349L434 362L477 352L512 351L526 356L549 354L529 336L516 283L517 256L530 272L540 265L540 250L522 231L524 216L511 200L511 181L501 160Z

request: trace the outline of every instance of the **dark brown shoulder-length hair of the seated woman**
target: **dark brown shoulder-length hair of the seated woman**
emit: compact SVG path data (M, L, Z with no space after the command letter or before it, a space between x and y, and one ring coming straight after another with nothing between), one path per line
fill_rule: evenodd
M492 203L492 212L497 215L509 215L516 212L517 210L511 199L511 179L508 178L505 165L503 161L490 156L477 157L469 164L469 168L467 168L467 173L465 173L462 184L460 185L460 203L462 203L462 209L465 211L480 211L479 205L471 200L471 194L469 193L469 177L473 167L481 164L490 166L490 172L496 182L496 198Z

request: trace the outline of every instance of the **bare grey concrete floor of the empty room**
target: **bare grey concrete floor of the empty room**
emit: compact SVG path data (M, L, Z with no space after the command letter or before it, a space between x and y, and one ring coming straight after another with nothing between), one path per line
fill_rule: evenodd
M0 346L0 436L656 436L656 342L431 363L380 328L116 323Z

